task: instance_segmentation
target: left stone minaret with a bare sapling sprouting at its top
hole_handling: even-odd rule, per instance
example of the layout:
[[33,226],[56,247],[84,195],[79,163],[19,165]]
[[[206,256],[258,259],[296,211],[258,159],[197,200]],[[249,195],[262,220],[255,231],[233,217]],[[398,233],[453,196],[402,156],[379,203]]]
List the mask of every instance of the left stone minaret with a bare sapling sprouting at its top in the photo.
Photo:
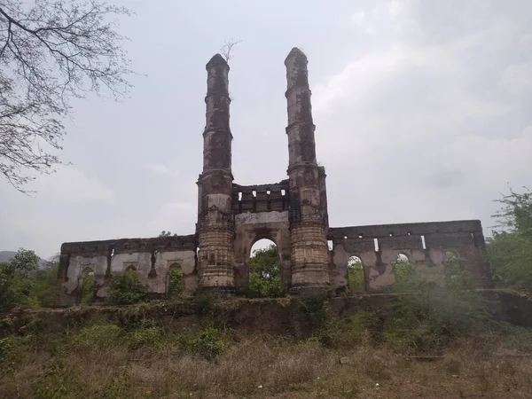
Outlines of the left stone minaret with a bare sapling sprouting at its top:
[[203,171],[198,179],[200,291],[234,290],[231,213],[231,129],[229,127],[229,65],[220,54],[207,63],[206,125],[203,132]]

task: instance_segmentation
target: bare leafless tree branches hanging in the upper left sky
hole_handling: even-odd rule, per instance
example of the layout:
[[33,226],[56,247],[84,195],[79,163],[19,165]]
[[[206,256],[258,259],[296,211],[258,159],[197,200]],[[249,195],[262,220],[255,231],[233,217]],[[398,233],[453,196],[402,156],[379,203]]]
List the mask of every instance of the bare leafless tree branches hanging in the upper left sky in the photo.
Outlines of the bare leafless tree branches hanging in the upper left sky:
[[128,93],[115,18],[130,14],[98,0],[0,0],[0,173],[20,192],[62,163],[70,99]]

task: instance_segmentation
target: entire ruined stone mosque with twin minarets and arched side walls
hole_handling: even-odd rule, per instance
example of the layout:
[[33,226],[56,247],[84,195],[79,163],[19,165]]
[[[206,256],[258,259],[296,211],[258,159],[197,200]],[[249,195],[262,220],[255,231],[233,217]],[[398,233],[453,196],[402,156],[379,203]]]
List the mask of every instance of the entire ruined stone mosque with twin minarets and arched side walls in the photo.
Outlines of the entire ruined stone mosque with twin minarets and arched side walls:
[[442,273],[449,254],[469,270],[478,286],[490,286],[485,243],[478,220],[330,227],[325,168],[318,166],[307,58],[288,54],[286,100],[288,177],[275,184],[233,182],[228,91],[229,66],[220,54],[207,63],[203,170],[198,179],[198,223],[194,234],[153,239],[69,242],[61,246],[61,302],[79,301],[82,279],[91,273],[97,299],[105,300],[113,277],[137,270],[153,298],[164,298],[170,270],[180,268],[184,291],[242,293],[247,262],[259,239],[278,248],[281,279],[289,293],[348,285],[348,260],[356,256],[368,292],[395,285],[397,256],[419,272]]

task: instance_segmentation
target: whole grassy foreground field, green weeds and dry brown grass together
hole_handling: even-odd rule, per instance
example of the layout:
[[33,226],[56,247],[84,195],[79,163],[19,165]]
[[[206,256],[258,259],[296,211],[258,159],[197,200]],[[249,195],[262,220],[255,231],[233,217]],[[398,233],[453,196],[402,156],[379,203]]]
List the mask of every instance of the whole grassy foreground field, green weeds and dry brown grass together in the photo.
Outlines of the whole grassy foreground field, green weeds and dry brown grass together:
[[[304,340],[92,325],[0,340],[2,398],[529,398],[532,332],[498,325],[416,348],[361,318]],[[425,338],[424,338],[425,339]],[[433,338],[427,338],[431,341]],[[429,349],[427,351],[427,348]],[[431,353],[432,352],[432,353]],[[437,355],[434,357],[416,357]],[[341,359],[341,362],[340,362]]]

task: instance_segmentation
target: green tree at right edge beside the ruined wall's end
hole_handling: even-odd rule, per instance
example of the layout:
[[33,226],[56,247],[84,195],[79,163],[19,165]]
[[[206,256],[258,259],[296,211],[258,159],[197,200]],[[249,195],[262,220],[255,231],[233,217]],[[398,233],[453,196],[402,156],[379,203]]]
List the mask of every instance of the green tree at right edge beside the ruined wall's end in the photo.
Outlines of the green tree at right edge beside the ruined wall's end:
[[514,192],[496,200],[496,229],[487,239],[487,252],[497,287],[532,293],[532,192]]

